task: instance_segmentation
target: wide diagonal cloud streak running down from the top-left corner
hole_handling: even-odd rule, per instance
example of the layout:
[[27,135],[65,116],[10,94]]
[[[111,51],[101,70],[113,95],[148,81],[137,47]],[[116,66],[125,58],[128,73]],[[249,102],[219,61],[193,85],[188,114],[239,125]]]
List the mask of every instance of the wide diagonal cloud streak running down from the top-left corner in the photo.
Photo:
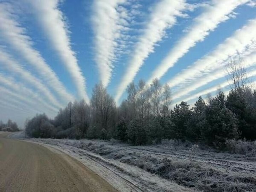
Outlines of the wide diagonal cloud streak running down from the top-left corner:
[[16,49],[29,64],[35,67],[38,74],[47,82],[47,85],[58,93],[65,103],[73,101],[73,96],[67,92],[40,53],[32,47],[31,38],[26,35],[26,29],[15,20],[16,17],[13,12],[14,10],[10,4],[0,3],[0,36]]

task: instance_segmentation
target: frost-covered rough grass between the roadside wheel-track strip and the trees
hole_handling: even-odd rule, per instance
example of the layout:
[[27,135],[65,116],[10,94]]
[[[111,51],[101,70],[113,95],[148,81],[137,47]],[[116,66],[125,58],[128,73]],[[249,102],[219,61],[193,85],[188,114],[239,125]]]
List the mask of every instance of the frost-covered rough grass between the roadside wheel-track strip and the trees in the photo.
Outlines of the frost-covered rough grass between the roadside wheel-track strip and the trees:
[[114,165],[121,163],[122,166],[137,167],[194,190],[256,191],[256,163],[245,158],[244,154],[222,153],[180,141],[163,141],[151,146],[131,146],[114,140],[33,141],[72,146],[96,154]]

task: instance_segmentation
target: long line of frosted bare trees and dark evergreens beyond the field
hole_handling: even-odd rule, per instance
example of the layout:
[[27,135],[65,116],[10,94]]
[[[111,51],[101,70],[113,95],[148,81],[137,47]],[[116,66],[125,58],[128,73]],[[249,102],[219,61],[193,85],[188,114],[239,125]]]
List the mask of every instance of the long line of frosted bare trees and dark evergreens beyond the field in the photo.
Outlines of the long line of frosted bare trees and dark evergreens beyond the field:
[[115,138],[134,145],[160,143],[162,139],[190,140],[220,147],[228,139],[256,139],[256,91],[238,86],[200,96],[193,107],[181,102],[170,109],[171,91],[155,79],[131,83],[119,107],[102,84],[93,89],[90,105],[69,103],[54,119],[45,114],[26,122],[26,134],[41,138]]

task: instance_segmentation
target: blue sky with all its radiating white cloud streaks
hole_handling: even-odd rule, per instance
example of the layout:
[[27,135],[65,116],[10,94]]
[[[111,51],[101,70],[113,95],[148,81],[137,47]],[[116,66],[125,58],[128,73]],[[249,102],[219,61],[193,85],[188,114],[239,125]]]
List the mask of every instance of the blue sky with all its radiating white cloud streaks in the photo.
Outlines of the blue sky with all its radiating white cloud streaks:
[[256,81],[256,0],[0,0],[0,119],[52,118],[99,82],[119,105],[140,79],[193,105],[239,58]]

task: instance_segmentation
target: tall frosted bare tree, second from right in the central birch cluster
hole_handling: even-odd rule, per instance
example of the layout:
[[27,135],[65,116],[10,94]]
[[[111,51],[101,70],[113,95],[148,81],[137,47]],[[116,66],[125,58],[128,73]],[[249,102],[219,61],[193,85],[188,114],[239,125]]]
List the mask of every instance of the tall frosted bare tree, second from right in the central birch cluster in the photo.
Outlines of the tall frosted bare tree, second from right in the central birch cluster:
[[150,85],[150,90],[151,90],[151,102],[152,102],[152,109],[153,113],[156,116],[160,116],[160,101],[161,101],[161,84],[158,79],[154,79],[152,84]]

